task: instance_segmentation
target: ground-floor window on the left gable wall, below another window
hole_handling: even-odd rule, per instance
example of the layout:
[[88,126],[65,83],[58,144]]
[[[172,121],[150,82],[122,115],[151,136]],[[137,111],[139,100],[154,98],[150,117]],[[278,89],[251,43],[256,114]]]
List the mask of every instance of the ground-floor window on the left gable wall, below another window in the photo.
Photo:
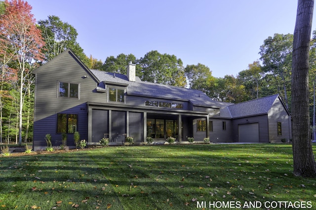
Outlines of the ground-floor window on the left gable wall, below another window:
[[57,114],[57,133],[74,133],[77,131],[78,115]]

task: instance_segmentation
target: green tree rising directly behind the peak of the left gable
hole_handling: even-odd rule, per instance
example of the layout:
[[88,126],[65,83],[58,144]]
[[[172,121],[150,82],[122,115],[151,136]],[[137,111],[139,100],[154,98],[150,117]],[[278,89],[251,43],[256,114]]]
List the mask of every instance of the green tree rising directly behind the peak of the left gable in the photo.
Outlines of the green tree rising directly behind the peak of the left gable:
[[39,21],[39,29],[45,41],[45,61],[70,48],[84,64],[89,64],[89,59],[77,42],[78,32],[72,25],[62,22],[57,16],[49,15],[47,20]]

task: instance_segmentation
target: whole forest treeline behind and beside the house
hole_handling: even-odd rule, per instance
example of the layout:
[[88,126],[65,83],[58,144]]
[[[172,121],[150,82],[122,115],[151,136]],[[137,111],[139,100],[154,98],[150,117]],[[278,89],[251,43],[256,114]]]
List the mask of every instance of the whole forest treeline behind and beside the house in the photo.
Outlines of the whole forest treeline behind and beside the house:
[[[32,71],[70,48],[91,69],[126,74],[129,62],[143,81],[197,89],[213,100],[239,103],[279,94],[291,111],[293,34],[267,37],[258,46],[260,60],[249,60],[247,69],[223,78],[212,76],[208,66],[183,65],[180,58],[152,50],[142,58],[119,54],[104,61],[89,57],[77,42],[77,30],[50,15],[35,21],[31,5],[23,0],[0,1],[0,144],[31,141],[34,111]],[[316,86],[316,30],[310,49],[310,102],[314,111]],[[311,119],[311,122],[313,120]]]

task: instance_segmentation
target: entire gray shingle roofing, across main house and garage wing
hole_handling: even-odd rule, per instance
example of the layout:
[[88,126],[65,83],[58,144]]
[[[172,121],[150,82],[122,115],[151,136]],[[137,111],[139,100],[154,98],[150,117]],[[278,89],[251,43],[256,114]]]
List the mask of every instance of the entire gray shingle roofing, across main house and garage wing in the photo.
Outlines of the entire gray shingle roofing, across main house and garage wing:
[[184,100],[190,101],[193,105],[197,106],[220,107],[220,116],[224,118],[240,118],[267,114],[278,97],[278,94],[276,94],[238,104],[232,104],[214,101],[200,90],[142,82],[139,77],[136,77],[136,82],[130,82],[127,76],[123,74],[92,69],[90,71],[99,81],[128,86],[127,94],[129,95]]

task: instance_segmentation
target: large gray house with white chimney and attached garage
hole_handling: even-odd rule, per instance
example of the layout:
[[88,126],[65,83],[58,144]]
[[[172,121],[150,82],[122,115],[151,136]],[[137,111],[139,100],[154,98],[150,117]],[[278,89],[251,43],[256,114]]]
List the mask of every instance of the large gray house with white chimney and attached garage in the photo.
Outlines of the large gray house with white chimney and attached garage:
[[278,95],[239,104],[214,101],[200,90],[141,81],[135,64],[127,75],[87,68],[70,50],[37,68],[34,110],[34,149],[74,145],[74,132],[88,144],[109,138],[121,145],[126,136],[136,144],[153,137],[176,143],[187,137],[202,142],[280,142],[291,138],[290,114]]

